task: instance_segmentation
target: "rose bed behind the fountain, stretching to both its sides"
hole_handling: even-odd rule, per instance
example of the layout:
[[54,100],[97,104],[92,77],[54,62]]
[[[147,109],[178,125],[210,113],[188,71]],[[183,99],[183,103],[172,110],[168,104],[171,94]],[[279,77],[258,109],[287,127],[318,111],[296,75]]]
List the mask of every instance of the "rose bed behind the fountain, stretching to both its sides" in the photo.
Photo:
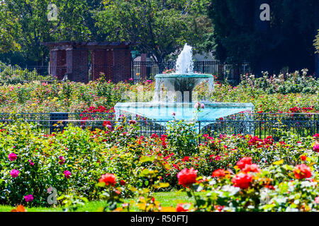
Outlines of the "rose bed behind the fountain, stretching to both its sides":
[[[255,112],[319,111],[318,80],[297,72],[286,79],[281,77],[245,77],[235,87],[216,82],[214,93],[209,93],[208,85],[201,83],[195,91],[198,101],[208,97],[213,102],[252,102]],[[285,91],[281,91],[281,85]],[[121,101],[148,102],[154,90],[155,83],[151,81],[112,83],[103,76],[88,84],[69,81],[6,84],[0,87],[0,112],[83,112],[99,106],[111,109]],[[141,96],[142,91],[145,93]]]

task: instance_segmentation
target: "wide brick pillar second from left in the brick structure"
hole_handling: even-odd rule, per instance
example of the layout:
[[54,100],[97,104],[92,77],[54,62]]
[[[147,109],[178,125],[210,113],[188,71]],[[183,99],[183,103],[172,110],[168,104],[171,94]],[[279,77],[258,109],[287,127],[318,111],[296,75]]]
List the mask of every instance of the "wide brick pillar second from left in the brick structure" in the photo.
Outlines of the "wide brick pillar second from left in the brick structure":
[[89,51],[67,49],[67,76],[70,81],[89,83]]

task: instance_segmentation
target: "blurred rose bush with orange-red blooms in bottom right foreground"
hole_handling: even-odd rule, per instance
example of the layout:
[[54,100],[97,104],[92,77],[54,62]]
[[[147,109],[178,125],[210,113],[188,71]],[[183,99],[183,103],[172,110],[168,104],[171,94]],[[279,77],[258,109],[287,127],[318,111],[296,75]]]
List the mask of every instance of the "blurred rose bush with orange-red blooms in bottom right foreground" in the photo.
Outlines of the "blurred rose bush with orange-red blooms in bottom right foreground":
[[[283,160],[257,172],[236,172],[228,177],[201,177],[190,190],[207,192],[195,196],[193,211],[318,211],[318,171],[306,165],[293,167]],[[313,162],[307,162],[313,165]],[[303,177],[296,171],[303,171]],[[313,174],[311,174],[313,172]]]

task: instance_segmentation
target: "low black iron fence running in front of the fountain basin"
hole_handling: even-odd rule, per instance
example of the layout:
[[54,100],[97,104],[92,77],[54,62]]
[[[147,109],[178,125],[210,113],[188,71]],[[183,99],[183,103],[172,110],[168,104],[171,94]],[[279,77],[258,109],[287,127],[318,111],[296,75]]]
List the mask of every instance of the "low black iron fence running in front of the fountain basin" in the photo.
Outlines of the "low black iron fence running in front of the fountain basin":
[[[142,136],[166,133],[165,124],[168,121],[154,121],[142,117],[132,118],[138,123],[138,130]],[[0,122],[14,123],[16,121],[33,122],[40,131],[52,133],[65,126],[80,126],[89,129],[104,129],[103,122],[110,121],[114,127],[119,121],[113,113],[23,113],[0,114]],[[296,133],[298,137],[313,136],[319,133],[319,114],[306,113],[240,113],[214,121],[196,121],[194,129],[198,133],[210,136],[220,134],[250,134],[259,138],[272,136],[275,140],[281,138],[283,131]]]

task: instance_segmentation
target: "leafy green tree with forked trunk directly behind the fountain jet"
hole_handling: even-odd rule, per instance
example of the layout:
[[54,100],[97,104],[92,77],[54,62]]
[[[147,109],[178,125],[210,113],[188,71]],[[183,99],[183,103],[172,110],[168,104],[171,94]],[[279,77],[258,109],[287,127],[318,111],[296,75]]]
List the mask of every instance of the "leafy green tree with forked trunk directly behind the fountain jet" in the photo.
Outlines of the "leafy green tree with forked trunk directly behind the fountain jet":
[[106,0],[96,14],[99,33],[111,41],[130,40],[162,70],[165,57],[185,42],[199,45],[212,32],[206,0]]

